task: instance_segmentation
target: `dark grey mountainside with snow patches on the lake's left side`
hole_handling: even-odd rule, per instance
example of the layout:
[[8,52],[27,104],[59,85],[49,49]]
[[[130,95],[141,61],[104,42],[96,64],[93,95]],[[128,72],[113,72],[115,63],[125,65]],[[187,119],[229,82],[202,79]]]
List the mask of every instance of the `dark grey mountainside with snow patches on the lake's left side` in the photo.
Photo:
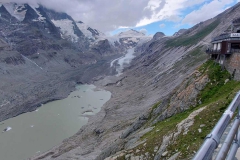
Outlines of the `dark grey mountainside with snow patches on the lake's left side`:
[[0,4],[0,121],[66,97],[76,83],[113,74],[110,61],[138,42],[121,38],[115,44],[41,5]]

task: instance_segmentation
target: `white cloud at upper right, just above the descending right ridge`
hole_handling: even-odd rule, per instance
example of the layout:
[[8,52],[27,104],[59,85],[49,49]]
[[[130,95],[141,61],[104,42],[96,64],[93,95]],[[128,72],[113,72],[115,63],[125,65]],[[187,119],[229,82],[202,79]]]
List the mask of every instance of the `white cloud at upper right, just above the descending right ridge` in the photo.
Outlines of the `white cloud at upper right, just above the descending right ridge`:
[[213,18],[223,12],[226,6],[233,2],[233,0],[213,0],[210,3],[205,3],[200,9],[194,10],[186,15],[182,23],[194,25]]

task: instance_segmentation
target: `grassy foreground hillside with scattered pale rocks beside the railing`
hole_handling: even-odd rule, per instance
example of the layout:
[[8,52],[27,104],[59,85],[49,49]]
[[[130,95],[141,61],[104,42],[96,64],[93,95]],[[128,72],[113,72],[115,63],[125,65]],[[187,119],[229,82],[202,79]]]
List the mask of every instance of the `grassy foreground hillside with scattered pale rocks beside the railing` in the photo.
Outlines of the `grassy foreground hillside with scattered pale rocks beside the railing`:
[[[150,117],[143,128],[154,128],[141,137],[140,145],[117,156],[118,160],[131,157],[168,159],[171,156],[191,159],[195,155],[204,138],[240,90],[240,82],[232,80],[232,76],[212,60],[204,63],[198,71],[207,75],[209,81],[196,97],[197,105],[189,106],[189,109],[155,124],[152,123],[155,119]],[[161,102],[153,105],[152,112],[160,105]],[[179,130],[179,126],[185,128],[180,127]]]

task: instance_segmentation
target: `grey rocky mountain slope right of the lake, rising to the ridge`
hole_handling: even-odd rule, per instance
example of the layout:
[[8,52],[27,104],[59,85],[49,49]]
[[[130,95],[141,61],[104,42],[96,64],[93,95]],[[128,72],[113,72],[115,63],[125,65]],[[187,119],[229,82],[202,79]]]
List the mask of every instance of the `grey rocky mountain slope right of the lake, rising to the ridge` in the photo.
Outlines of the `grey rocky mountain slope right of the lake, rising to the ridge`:
[[[102,160],[107,157],[109,157],[108,159],[159,159],[161,156],[175,157],[176,159],[180,155],[178,148],[174,148],[175,150],[172,150],[169,155],[166,151],[169,131],[176,133],[177,137],[182,131],[182,124],[188,126],[185,128],[187,132],[192,125],[187,122],[193,121],[202,113],[205,115],[207,112],[214,113],[214,109],[216,109],[214,108],[216,105],[212,105],[212,108],[211,106],[206,110],[201,108],[191,112],[192,114],[186,111],[192,106],[203,103],[203,99],[198,99],[199,94],[206,86],[214,84],[209,81],[216,82],[209,78],[205,71],[195,69],[207,60],[208,57],[204,51],[211,45],[211,39],[227,30],[234,18],[240,17],[239,10],[240,4],[237,4],[215,18],[184,31],[179,36],[162,37],[163,35],[159,34],[162,38],[154,38],[137,47],[136,54],[139,56],[120,77],[106,77],[95,82],[96,85],[112,92],[111,100],[105,104],[102,110],[96,116],[91,117],[88,125],[80,129],[76,135],[65,140],[60,146],[33,159]],[[205,67],[207,68],[207,66]],[[216,86],[218,84],[223,86],[224,80],[229,74],[224,75],[220,76],[224,79],[221,80],[221,83],[216,83]],[[236,82],[232,81],[231,83],[235,84]],[[234,93],[231,92],[231,97],[232,95]],[[226,97],[224,98],[226,99]],[[220,102],[224,108],[226,103],[222,100]],[[173,118],[174,123],[172,123],[172,120],[168,119],[181,112],[183,114],[179,115],[179,119],[183,121],[175,123]],[[177,127],[179,130],[177,129],[176,132],[170,129],[164,131],[161,121],[169,121],[165,126],[172,126],[173,129],[179,124]],[[214,122],[209,121],[213,127]],[[154,124],[159,124],[159,126],[155,126],[153,129]],[[199,126],[197,127],[199,128]],[[158,137],[160,143],[151,145],[153,148],[149,146],[150,138],[145,141],[140,139],[144,138],[146,133],[161,135],[162,137]],[[204,132],[204,134],[206,133]],[[154,138],[156,137],[153,136],[152,140],[156,142]],[[166,142],[161,143],[165,139]],[[198,145],[200,143],[199,141]],[[151,152],[147,148],[151,149]],[[118,153],[115,156],[110,157],[116,152]],[[184,152],[184,155],[183,159],[191,157],[193,154],[186,155]]]

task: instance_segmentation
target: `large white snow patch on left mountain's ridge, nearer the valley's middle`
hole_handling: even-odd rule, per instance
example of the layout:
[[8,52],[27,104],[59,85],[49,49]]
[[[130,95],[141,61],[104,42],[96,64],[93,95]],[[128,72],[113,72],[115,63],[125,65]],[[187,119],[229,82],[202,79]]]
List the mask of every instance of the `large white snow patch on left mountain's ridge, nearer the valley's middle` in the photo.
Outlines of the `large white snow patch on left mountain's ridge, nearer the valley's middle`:
[[55,26],[60,28],[63,39],[70,39],[72,42],[78,41],[78,36],[74,33],[73,21],[69,19],[52,20]]

